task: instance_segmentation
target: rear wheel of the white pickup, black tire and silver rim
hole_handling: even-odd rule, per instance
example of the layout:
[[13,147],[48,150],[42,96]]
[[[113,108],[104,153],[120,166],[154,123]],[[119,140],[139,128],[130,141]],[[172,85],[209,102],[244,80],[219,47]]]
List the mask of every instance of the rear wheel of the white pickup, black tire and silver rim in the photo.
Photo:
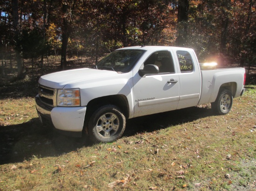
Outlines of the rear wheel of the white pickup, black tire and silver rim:
[[219,115],[226,115],[232,108],[233,96],[228,89],[222,89],[215,102],[211,103],[211,108]]

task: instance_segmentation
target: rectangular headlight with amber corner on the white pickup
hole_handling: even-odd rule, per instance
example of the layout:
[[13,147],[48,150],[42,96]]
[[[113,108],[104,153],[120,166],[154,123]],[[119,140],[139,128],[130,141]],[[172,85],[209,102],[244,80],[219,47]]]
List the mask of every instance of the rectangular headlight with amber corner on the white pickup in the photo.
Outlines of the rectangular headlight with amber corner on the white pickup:
[[81,106],[80,89],[58,89],[57,106]]

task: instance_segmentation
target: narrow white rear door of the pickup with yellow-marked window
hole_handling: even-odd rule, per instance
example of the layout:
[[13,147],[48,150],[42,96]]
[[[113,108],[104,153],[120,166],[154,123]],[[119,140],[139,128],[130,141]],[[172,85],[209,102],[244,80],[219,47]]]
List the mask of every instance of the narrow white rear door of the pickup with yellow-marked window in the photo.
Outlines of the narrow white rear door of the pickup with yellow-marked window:
[[177,109],[198,104],[201,95],[201,70],[195,54],[189,51],[175,51],[175,59],[180,70],[180,101]]

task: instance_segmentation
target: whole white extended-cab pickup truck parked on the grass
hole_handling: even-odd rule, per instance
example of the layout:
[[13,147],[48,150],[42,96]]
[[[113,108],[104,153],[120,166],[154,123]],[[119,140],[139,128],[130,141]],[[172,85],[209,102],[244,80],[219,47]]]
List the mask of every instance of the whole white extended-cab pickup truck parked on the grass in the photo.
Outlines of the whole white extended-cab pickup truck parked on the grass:
[[36,109],[41,122],[50,121],[62,133],[85,132],[94,142],[112,142],[123,134],[127,119],[142,115],[204,103],[217,114],[229,113],[233,97],[243,95],[245,70],[209,68],[189,48],[121,48],[96,69],[41,76]]

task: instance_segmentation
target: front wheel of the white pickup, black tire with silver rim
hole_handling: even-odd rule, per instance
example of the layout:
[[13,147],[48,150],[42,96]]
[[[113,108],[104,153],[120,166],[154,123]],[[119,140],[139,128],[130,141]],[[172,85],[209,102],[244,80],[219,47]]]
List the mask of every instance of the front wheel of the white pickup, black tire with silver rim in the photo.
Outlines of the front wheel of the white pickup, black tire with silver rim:
[[113,142],[121,137],[125,125],[126,119],[120,109],[114,105],[105,105],[91,115],[88,135],[94,143]]

